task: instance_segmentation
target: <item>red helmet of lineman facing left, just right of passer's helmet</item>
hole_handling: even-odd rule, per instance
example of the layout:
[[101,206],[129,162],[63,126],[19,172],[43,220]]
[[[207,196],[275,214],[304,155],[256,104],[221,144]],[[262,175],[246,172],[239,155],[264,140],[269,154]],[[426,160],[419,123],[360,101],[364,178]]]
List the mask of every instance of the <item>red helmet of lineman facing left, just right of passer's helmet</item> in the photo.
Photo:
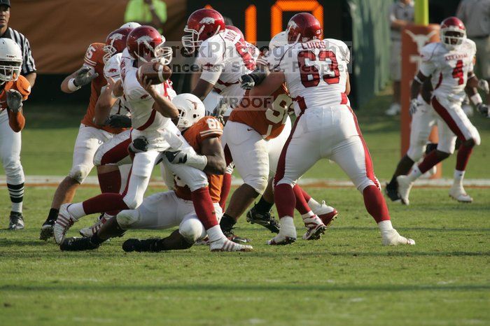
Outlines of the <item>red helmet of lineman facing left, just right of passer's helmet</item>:
[[225,30],[225,19],[214,9],[195,10],[189,16],[182,36],[182,45],[188,53],[194,53],[203,41]]

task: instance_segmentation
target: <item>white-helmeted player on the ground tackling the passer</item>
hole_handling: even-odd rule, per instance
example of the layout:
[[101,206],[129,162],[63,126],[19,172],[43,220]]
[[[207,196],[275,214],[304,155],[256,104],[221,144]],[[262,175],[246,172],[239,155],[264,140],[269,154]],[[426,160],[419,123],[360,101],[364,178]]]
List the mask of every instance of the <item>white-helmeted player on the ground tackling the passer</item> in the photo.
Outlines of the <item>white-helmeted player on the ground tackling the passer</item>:
[[[225,171],[225,155],[220,143],[223,134],[221,122],[204,116],[204,104],[193,94],[180,94],[172,101],[179,108],[177,127],[199,155],[206,155],[204,171],[209,180],[209,193],[214,202],[217,218],[221,217],[219,199]],[[166,171],[169,171],[167,169]],[[153,194],[144,199],[134,210],[121,211],[107,222],[96,234],[85,239],[66,239],[62,250],[90,250],[112,236],[120,236],[127,229],[169,229],[179,227],[165,239],[129,239],[123,244],[125,251],[161,251],[186,249],[203,239],[207,232],[197,218],[191,202],[190,189],[178,176],[172,175],[174,190]],[[220,250],[211,243],[211,250]],[[251,250],[250,246],[244,247]]]

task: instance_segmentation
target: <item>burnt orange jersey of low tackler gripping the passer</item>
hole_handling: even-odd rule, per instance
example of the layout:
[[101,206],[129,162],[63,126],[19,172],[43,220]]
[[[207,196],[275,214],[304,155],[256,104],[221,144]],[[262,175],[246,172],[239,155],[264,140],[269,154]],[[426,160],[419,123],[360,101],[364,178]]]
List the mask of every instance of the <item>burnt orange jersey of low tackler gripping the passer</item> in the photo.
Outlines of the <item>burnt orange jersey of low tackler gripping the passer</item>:
[[[223,125],[221,125],[221,122],[216,120],[216,118],[209,116],[197,121],[194,125],[183,132],[184,138],[186,139],[186,141],[188,141],[190,146],[193,146],[197,154],[202,153],[202,142],[205,139],[219,139],[222,134]],[[218,201],[220,201],[221,197],[221,185],[223,185],[223,176],[209,173],[207,173],[207,176],[209,182],[209,194],[211,194],[211,199],[213,200],[213,202],[217,203]],[[178,177],[176,177],[175,182],[175,193],[179,198],[191,200],[189,187],[179,185]]]

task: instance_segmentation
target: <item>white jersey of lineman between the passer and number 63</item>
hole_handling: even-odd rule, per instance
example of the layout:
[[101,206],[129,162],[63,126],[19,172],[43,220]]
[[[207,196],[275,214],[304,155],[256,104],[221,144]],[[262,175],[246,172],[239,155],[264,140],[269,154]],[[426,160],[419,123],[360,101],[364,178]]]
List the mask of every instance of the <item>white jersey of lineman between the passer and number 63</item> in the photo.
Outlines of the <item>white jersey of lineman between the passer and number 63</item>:
[[[208,38],[200,46],[197,64],[203,69],[201,79],[214,84],[214,90],[225,99],[243,97],[245,90],[240,87],[241,75],[255,69],[255,58],[258,53],[244,41],[236,31],[225,29],[222,33]],[[251,54],[252,53],[252,54]],[[235,107],[238,101],[229,101]]]

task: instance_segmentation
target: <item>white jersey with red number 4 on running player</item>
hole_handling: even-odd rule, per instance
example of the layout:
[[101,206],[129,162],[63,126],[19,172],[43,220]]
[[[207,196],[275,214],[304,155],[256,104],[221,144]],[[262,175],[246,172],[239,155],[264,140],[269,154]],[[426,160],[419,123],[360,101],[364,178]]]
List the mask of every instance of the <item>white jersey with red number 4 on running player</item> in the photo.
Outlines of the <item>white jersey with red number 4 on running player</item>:
[[443,43],[429,43],[421,50],[420,72],[432,75],[433,95],[450,101],[463,101],[468,72],[473,71],[475,42],[465,38],[454,50]]

